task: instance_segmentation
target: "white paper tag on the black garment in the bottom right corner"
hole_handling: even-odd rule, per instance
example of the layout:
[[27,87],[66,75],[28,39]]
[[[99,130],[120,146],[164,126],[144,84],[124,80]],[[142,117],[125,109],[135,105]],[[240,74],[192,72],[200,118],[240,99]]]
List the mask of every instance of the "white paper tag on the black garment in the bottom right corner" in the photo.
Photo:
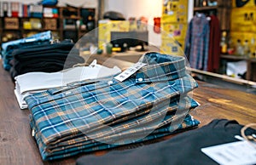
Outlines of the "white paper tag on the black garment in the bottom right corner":
[[223,165],[256,164],[256,145],[245,140],[210,146],[202,148],[201,151]]

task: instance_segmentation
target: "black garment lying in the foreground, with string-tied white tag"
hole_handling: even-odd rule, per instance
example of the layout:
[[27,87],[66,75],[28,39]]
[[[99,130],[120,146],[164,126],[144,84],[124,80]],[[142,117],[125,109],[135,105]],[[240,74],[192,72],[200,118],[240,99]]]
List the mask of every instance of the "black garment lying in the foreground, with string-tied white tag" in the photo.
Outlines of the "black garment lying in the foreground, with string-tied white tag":
[[[218,164],[201,152],[201,148],[237,141],[243,126],[236,121],[216,119],[203,126],[151,145],[127,151],[110,151],[103,156],[82,156],[77,165],[97,164]],[[254,132],[255,130],[250,129]]]

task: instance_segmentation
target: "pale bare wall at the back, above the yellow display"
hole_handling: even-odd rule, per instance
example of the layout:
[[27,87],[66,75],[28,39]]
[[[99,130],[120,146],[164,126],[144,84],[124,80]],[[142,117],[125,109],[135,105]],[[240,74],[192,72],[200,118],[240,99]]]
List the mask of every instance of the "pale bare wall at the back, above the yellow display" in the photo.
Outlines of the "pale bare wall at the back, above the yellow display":
[[105,0],[104,11],[117,11],[124,14],[125,19],[141,16],[148,18],[148,42],[160,46],[160,34],[154,33],[154,17],[162,14],[162,0]]

